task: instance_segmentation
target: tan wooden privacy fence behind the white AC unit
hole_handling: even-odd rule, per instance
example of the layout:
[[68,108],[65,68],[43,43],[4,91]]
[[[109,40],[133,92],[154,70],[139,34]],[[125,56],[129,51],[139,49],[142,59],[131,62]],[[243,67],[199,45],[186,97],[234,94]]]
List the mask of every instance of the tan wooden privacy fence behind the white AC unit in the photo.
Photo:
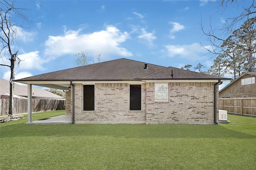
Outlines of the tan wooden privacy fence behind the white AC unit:
[[228,113],[256,116],[256,98],[219,99],[219,109]]

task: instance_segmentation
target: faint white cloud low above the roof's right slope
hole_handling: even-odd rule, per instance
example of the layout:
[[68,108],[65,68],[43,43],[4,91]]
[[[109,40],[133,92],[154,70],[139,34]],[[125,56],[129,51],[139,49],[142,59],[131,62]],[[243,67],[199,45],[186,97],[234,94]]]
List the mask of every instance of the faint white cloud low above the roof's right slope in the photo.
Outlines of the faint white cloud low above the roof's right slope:
[[168,57],[180,57],[188,61],[197,61],[202,59],[202,55],[206,53],[200,44],[193,43],[191,45],[165,45],[165,52]]

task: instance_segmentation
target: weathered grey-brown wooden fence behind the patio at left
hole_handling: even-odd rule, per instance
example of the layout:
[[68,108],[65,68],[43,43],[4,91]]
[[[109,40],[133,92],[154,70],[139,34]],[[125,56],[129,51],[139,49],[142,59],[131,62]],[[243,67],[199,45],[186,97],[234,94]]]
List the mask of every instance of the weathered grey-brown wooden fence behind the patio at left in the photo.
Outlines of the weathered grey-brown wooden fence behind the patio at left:
[[[63,110],[66,100],[32,99],[32,112]],[[9,111],[9,99],[0,99],[0,116],[7,115]],[[27,99],[14,99],[14,113],[28,113]]]

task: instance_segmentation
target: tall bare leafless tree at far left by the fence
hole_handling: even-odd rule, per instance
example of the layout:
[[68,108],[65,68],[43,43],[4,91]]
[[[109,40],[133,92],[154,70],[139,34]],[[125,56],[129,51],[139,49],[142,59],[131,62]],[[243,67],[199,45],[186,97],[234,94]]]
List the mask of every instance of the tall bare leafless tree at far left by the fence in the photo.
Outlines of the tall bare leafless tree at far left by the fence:
[[[18,58],[18,51],[14,51],[14,46],[18,44],[16,37],[18,32],[22,32],[22,23],[31,24],[31,21],[23,13],[26,8],[16,8],[15,0],[1,0],[0,1],[0,58],[7,58],[10,64],[0,64],[1,66],[10,67],[10,104],[8,117],[14,114],[13,107],[13,90],[14,90],[14,68],[19,66],[20,59]],[[20,24],[18,23],[20,21]]]

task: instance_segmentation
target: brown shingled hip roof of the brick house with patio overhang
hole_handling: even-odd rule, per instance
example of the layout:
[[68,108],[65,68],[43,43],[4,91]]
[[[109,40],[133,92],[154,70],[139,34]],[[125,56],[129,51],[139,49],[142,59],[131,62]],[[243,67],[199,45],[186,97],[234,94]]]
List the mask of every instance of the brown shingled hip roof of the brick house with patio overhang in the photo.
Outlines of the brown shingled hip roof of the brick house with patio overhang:
[[[143,62],[130,59],[116,59],[102,63],[90,64],[40,74],[16,80],[27,84],[66,90],[70,81],[134,81],[134,80],[229,80],[218,76],[211,76],[198,72],[182,70],[174,67],[164,67],[147,64],[144,69]],[[174,74],[172,78],[171,74]],[[39,83],[41,82],[41,83]],[[44,82],[44,83],[42,83]],[[51,82],[51,83],[50,83]]]

